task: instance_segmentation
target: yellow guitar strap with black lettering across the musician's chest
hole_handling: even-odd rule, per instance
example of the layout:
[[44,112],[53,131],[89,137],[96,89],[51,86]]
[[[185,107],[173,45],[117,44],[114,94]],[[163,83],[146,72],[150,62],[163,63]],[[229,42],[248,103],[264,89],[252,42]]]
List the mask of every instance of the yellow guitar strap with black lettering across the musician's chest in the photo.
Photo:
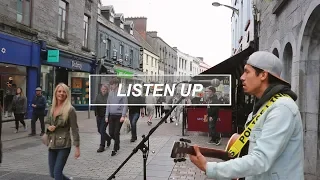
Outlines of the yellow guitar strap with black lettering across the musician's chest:
[[[290,97],[287,94],[278,93],[275,94],[267,103],[264,105],[260,112],[257,113],[256,116],[252,119],[250,124],[245,128],[245,130],[241,133],[239,138],[235,141],[235,143],[230,147],[229,153],[232,157],[236,157],[242,150],[242,148],[245,146],[245,144],[248,142],[249,136],[251,134],[251,130],[258,121],[259,117],[274,103],[277,99],[281,97]],[[291,97],[290,97],[291,98]]]

